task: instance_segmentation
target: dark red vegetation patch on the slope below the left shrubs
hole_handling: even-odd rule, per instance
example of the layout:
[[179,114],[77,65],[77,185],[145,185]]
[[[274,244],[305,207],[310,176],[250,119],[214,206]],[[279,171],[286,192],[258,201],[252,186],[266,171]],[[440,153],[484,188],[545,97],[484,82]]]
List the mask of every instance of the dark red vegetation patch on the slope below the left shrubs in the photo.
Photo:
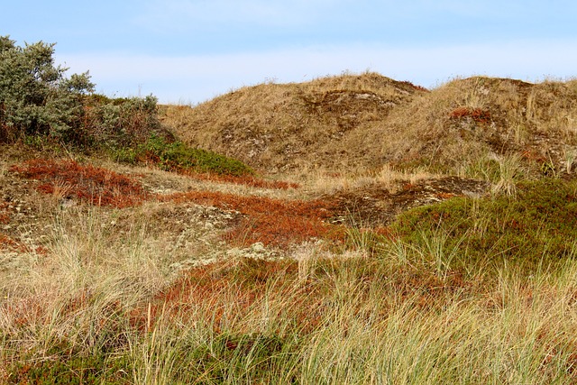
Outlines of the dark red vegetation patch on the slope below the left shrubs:
[[136,206],[148,197],[139,182],[74,160],[28,160],[11,170],[25,178],[41,180],[41,192],[78,197],[97,206]]

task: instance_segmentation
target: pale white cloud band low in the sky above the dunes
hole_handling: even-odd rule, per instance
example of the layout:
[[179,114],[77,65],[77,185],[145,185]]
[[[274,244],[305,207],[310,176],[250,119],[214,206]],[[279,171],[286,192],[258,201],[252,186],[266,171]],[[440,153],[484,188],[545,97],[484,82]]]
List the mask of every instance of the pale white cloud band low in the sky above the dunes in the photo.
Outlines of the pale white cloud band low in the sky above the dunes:
[[110,53],[66,55],[57,60],[65,62],[73,72],[89,69],[98,90],[105,94],[152,93],[161,102],[195,103],[266,79],[298,82],[343,70],[371,69],[425,87],[471,75],[529,81],[545,76],[567,78],[577,75],[577,41],[516,41],[424,49],[332,46],[183,57]]

